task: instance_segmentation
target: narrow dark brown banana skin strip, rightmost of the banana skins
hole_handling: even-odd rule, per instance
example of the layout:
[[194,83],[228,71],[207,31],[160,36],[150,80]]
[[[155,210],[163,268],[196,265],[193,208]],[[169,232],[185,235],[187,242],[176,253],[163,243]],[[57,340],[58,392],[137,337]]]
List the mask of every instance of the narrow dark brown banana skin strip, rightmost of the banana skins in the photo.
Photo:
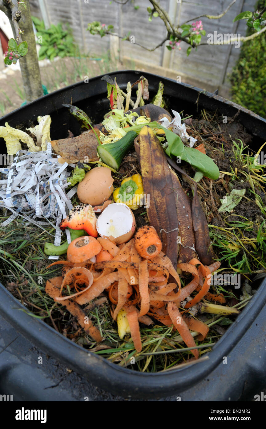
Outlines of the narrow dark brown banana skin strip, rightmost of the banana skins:
[[203,265],[210,265],[213,263],[215,254],[210,243],[210,233],[207,219],[198,199],[197,185],[195,186],[194,190],[191,211],[195,234],[195,246],[199,260]]

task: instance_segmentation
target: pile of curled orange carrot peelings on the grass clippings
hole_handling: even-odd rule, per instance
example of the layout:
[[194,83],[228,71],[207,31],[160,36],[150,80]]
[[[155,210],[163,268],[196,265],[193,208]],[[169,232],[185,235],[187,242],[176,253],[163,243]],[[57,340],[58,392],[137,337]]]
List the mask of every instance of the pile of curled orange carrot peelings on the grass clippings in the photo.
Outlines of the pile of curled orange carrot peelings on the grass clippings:
[[[64,276],[61,278],[61,289],[54,298],[56,301],[62,301],[66,306],[65,302],[75,303],[77,306],[84,305],[105,290],[108,291],[109,300],[115,305],[115,309],[111,311],[112,317],[116,320],[121,309],[127,312],[131,337],[138,352],[142,350],[139,322],[151,325],[153,323],[151,317],[166,326],[173,324],[174,329],[177,329],[188,347],[195,346],[195,340],[189,329],[198,332],[197,339],[200,341],[206,337],[208,326],[187,313],[188,308],[203,297],[214,298],[214,295],[209,292],[209,275],[219,268],[218,261],[209,267],[195,258],[189,263],[178,264],[180,272],[187,272],[193,276],[185,287],[181,287],[177,271],[162,251],[155,258],[142,259],[136,251],[134,239],[119,247],[107,239],[99,238],[95,241],[102,246],[100,252],[102,254],[106,252],[110,260],[100,260],[96,263],[56,261],[50,264],[50,266],[63,265]],[[174,278],[175,282],[170,280],[168,283],[169,277]],[[62,296],[62,290],[66,285],[76,290],[76,293]],[[181,314],[180,302],[195,290],[196,296],[184,306],[186,311]],[[224,298],[219,296],[219,299]],[[76,307],[73,311],[77,311]],[[85,329],[82,320],[80,318],[79,320],[80,325]],[[91,333],[89,335],[92,336]],[[198,358],[198,350],[193,349],[192,353],[195,358]]]

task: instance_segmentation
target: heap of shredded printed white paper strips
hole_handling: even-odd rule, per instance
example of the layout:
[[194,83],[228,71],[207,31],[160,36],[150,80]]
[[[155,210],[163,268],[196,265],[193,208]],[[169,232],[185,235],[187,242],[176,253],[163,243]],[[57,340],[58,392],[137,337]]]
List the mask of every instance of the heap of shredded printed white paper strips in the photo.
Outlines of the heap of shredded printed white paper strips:
[[73,207],[71,198],[77,191],[73,187],[66,192],[68,166],[52,157],[50,143],[46,151],[19,150],[11,166],[0,169],[0,207],[12,212],[0,226],[6,227],[18,216],[42,230],[50,225],[56,230],[54,244],[60,245],[59,224]]

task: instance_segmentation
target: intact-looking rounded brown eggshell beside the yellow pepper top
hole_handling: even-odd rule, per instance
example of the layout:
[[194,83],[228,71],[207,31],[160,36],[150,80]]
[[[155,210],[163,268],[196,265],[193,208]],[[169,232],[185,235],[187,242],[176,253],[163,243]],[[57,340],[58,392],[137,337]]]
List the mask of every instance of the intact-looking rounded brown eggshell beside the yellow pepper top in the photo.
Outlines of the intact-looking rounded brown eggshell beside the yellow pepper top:
[[78,184],[77,196],[81,202],[99,205],[111,195],[114,187],[111,170],[107,167],[95,167],[88,171]]

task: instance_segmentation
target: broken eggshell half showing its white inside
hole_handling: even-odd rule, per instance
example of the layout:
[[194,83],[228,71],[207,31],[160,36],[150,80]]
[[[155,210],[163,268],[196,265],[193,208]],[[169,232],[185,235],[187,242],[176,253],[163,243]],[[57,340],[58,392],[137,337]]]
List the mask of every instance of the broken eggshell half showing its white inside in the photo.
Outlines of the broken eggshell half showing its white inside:
[[136,229],[133,211],[126,204],[109,204],[98,217],[96,229],[101,237],[116,245],[127,243]]

